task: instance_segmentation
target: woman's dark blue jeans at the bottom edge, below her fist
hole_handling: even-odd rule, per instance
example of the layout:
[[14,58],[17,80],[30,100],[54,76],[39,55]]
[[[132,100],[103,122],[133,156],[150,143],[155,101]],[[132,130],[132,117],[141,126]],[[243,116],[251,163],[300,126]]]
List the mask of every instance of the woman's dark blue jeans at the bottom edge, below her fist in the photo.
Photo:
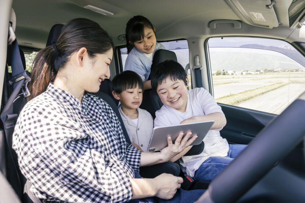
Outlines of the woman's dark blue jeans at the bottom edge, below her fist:
[[[141,178],[140,174],[135,172],[135,178]],[[128,201],[128,203],[163,203],[163,202],[167,202],[167,203],[188,203],[188,202],[194,202],[197,199],[199,199],[199,197],[205,192],[205,190],[190,190],[190,191],[185,191],[182,190],[181,188],[177,190],[176,194],[174,195],[173,198],[169,199],[169,200],[165,200],[165,199],[160,199],[157,197],[150,197],[150,198],[144,198],[144,199],[133,199]]]

